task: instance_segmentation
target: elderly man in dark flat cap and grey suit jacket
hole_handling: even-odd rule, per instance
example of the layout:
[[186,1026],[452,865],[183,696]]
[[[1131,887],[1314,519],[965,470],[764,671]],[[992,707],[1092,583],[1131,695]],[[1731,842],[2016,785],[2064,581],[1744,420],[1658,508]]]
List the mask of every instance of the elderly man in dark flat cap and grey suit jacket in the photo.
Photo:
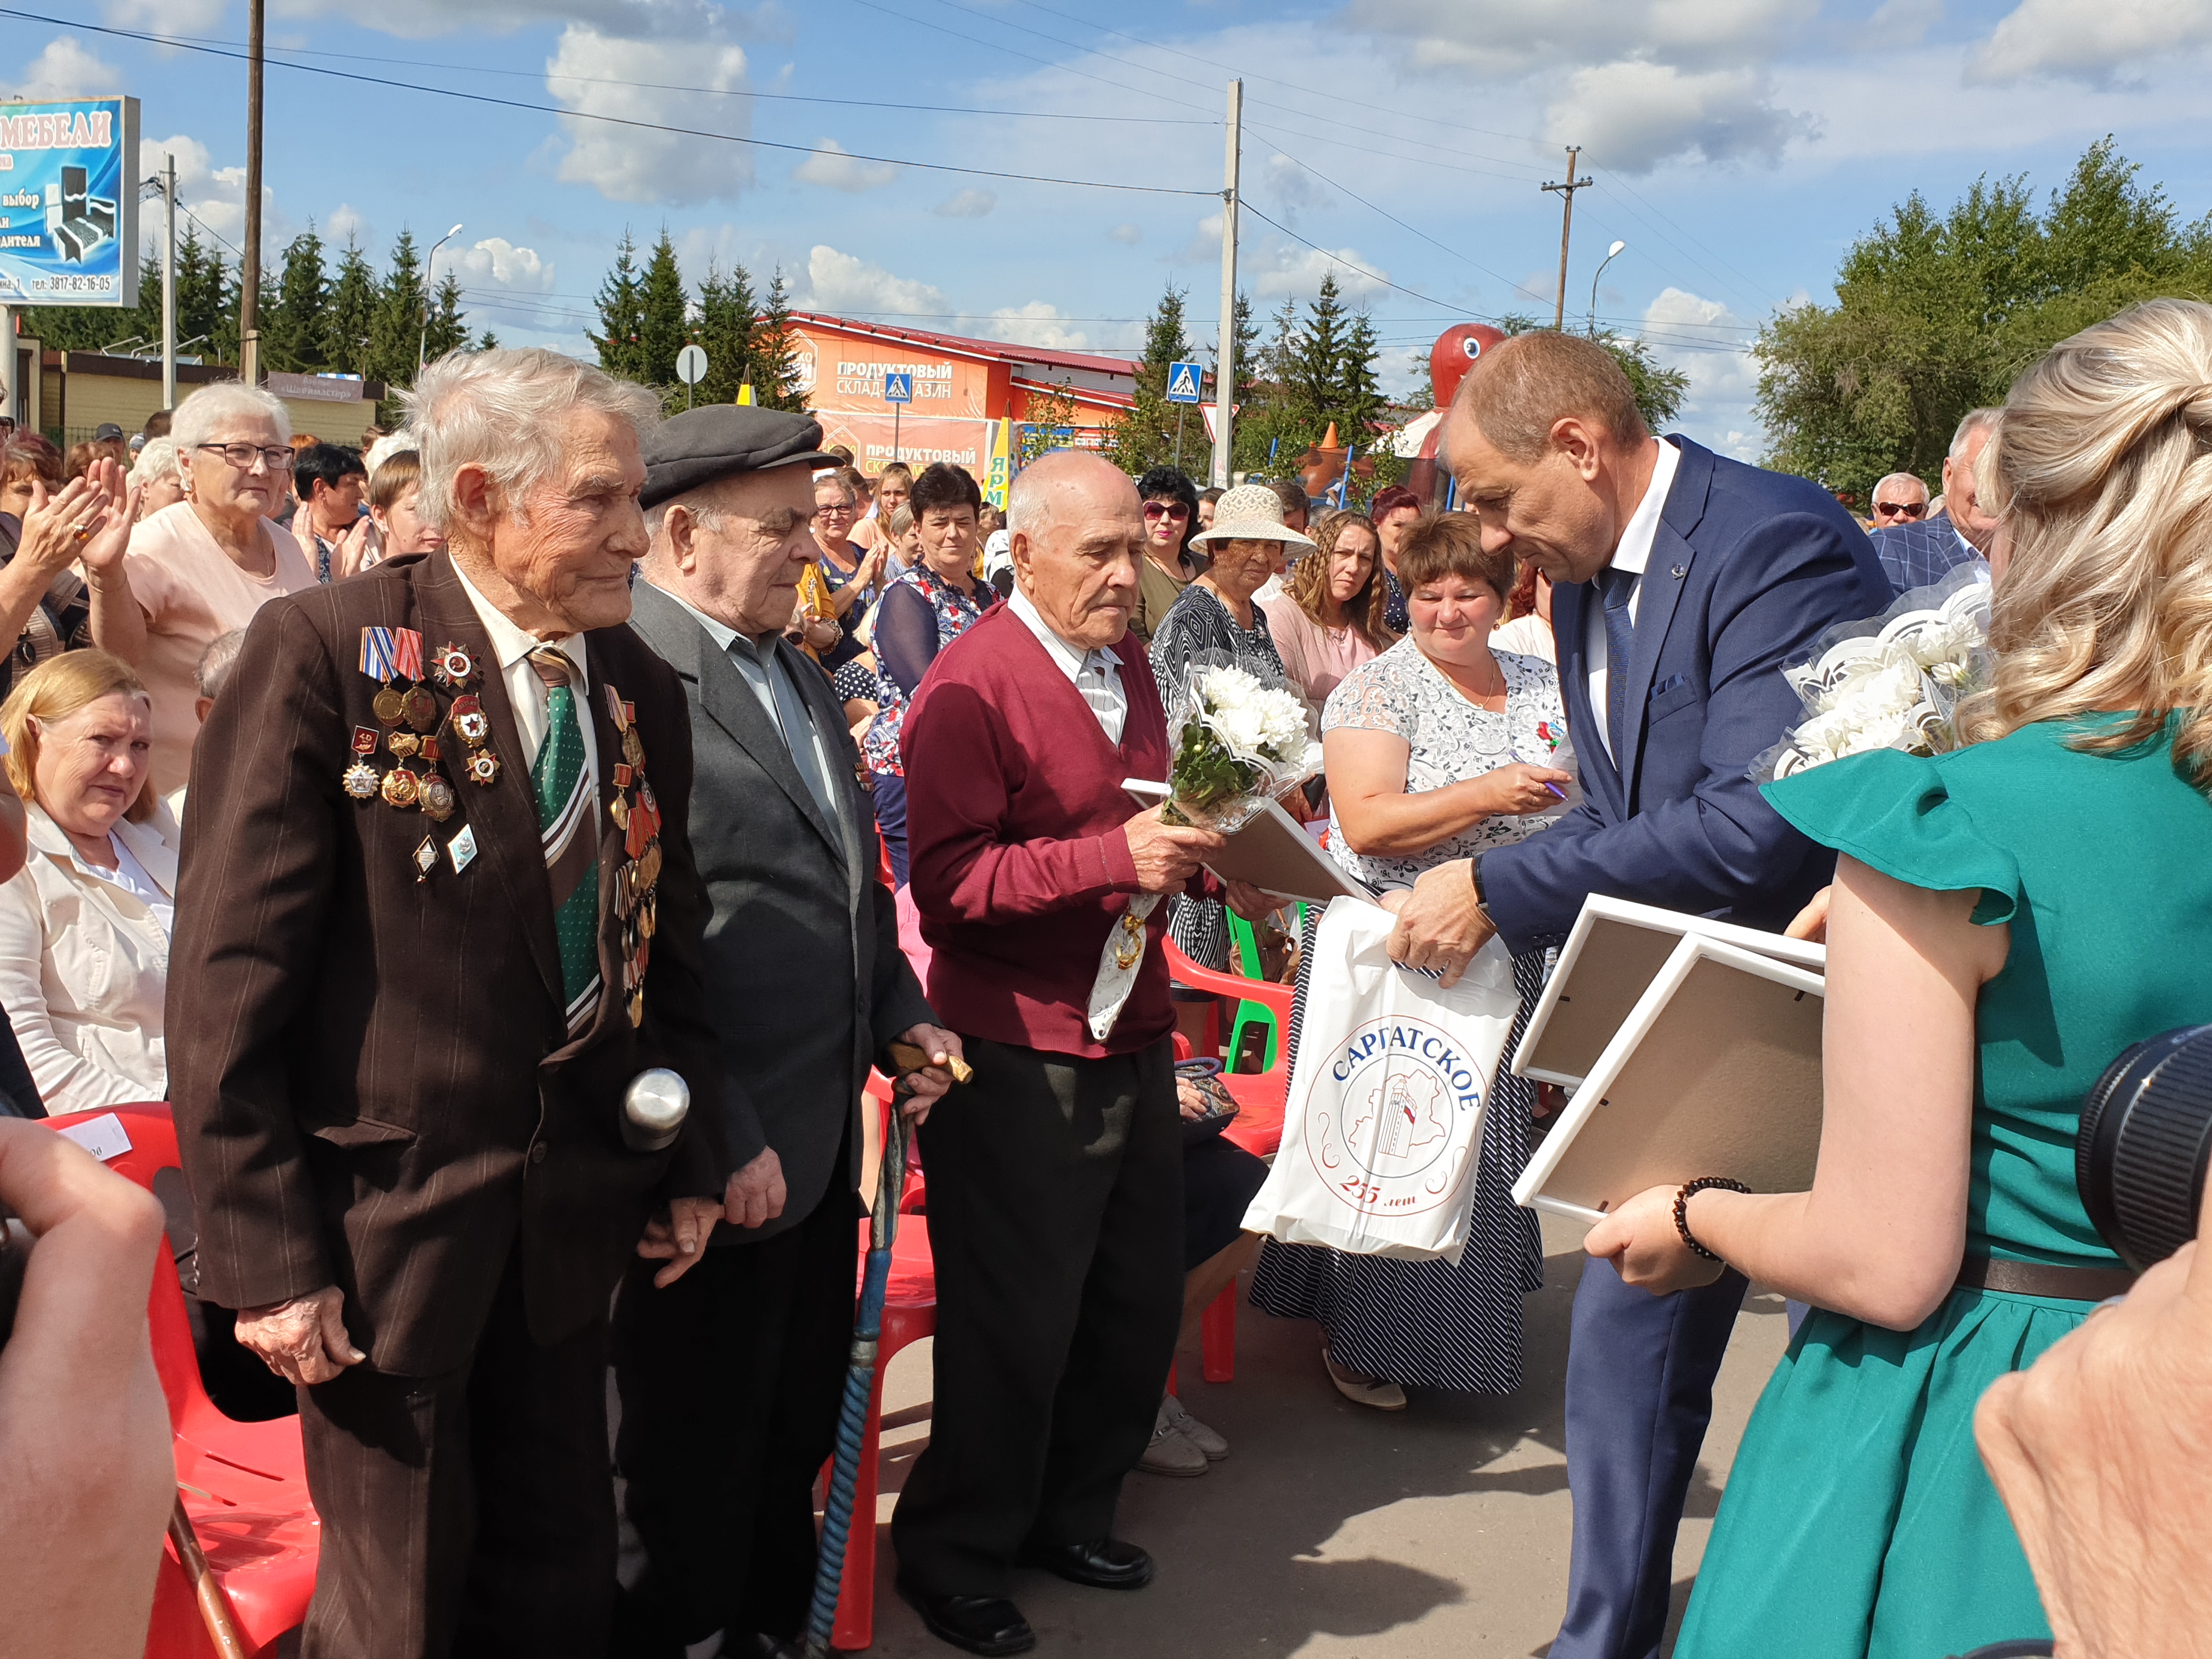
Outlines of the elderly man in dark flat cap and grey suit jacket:
[[[860,1091],[905,1040],[949,1060],[876,880],[876,821],[823,670],[783,639],[821,427],[712,407],[646,440],[653,535],[630,626],[692,717],[692,849],[708,887],[730,1177],[706,1261],[668,1290],[639,1263],[615,1307],[617,1462],[646,1548],[615,1652],[726,1655],[799,1635],[814,1475],[836,1438],[854,1310]],[[949,1077],[911,1075],[916,1115]]]

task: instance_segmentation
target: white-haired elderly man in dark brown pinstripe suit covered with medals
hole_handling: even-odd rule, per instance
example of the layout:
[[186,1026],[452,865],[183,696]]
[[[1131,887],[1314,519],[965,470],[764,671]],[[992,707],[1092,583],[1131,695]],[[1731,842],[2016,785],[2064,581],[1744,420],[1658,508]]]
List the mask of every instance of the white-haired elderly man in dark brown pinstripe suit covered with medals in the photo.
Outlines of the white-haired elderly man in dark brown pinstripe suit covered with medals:
[[622,626],[657,407],[551,352],[411,405],[447,549],[268,604],[195,748],[197,1290],[299,1385],[305,1659],[597,1659],[608,1296],[726,1175],[690,721]]

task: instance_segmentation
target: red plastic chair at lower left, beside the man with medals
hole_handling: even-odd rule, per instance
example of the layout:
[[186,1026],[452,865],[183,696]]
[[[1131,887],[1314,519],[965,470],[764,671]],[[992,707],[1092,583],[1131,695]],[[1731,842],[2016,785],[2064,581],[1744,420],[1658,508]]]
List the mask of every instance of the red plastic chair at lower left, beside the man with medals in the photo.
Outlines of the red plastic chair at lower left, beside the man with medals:
[[[153,1190],[159,1170],[177,1168],[177,1128],[168,1106],[115,1106],[113,1113],[131,1135],[131,1150],[111,1157],[108,1168]],[[71,1113],[49,1121],[69,1128],[104,1115]],[[168,1396],[184,1509],[246,1650],[274,1652],[276,1639],[307,1617],[323,1542],[323,1522],[307,1500],[299,1418],[234,1422],[215,1407],[199,1380],[184,1290],[168,1250],[155,1263],[146,1318],[155,1371]],[[146,1659],[215,1659],[192,1586],[168,1546],[155,1579]]]

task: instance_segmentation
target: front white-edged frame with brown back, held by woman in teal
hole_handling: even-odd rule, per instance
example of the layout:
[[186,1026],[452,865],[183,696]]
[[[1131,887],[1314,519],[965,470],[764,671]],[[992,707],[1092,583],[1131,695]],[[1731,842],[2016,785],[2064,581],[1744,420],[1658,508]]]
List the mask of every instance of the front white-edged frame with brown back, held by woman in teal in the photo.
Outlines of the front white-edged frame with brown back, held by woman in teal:
[[1823,989],[1803,967],[1679,933],[1577,1079],[1513,1201],[1595,1223],[1646,1188],[1701,1175],[1754,1192],[1809,1188]]

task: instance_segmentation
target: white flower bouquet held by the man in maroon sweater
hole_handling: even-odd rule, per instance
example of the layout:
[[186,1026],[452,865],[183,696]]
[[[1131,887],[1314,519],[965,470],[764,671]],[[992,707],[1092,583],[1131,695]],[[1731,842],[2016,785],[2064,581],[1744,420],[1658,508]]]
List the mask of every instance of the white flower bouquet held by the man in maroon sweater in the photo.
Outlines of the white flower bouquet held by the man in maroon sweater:
[[1232,834],[1283,790],[1321,770],[1305,703],[1228,655],[1201,653],[1183,670],[1170,710],[1179,721],[1168,774],[1168,823]]

